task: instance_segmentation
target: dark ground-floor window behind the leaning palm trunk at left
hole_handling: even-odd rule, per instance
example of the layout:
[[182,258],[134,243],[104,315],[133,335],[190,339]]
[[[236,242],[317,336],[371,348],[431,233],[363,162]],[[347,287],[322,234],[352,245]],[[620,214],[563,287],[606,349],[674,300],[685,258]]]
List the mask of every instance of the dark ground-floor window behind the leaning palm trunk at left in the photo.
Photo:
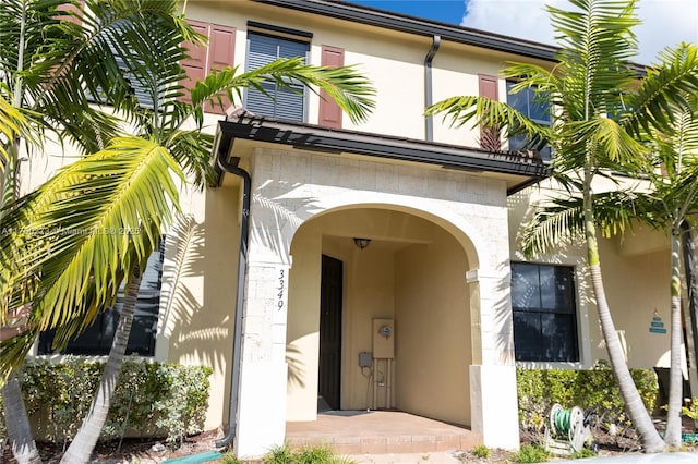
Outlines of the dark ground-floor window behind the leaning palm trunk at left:
[[[141,280],[139,301],[133,315],[131,335],[127,345],[127,354],[141,356],[155,355],[155,335],[157,317],[160,307],[160,288],[163,283],[163,255],[165,239],[160,240],[160,248],[148,258]],[[68,343],[62,354],[107,355],[111,347],[119,310],[123,304],[123,289],[119,291],[117,304],[95,318],[80,337]],[[55,330],[41,332],[39,335],[39,354],[51,354]]]

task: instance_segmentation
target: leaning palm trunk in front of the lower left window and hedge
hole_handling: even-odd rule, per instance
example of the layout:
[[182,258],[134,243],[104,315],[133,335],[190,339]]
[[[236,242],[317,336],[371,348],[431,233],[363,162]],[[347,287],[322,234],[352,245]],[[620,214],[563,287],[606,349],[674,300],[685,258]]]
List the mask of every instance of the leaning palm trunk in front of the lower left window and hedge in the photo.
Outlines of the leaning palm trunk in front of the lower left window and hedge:
[[87,416],[83,420],[80,430],[77,430],[73,442],[68,447],[65,454],[63,454],[61,464],[86,464],[89,462],[101,428],[107,420],[111,396],[117,386],[119,370],[121,370],[121,365],[123,364],[123,356],[127,351],[129,334],[131,333],[131,323],[133,322],[133,313],[139,298],[140,286],[141,270],[136,265],[131,273],[131,279],[123,298],[123,306],[113,335],[113,342],[109,350],[105,373],[101,376],[99,387],[97,387],[97,392],[95,393],[89,412],[87,412]]

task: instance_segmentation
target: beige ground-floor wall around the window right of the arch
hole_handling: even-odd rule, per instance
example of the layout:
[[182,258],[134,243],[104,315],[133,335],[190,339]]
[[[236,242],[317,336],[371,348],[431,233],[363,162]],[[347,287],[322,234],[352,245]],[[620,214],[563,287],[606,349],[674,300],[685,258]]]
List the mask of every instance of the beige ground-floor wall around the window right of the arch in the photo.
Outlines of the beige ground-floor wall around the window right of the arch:
[[[623,181],[623,179],[621,179]],[[599,190],[609,187],[603,181]],[[559,194],[550,183],[542,188],[527,188],[508,198],[512,259],[526,260],[516,236],[532,212],[531,205],[541,198]],[[629,367],[669,367],[670,323],[670,249],[662,232],[646,227],[627,230],[625,236],[600,239],[601,268],[606,297],[616,331]],[[566,243],[535,262],[575,266],[577,288],[577,328],[580,363],[519,363],[529,367],[590,367],[597,359],[607,359],[601,335],[591,282],[587,276],[586,248],[580,240]],[[650,333],[654,314],[664,322],[667,333]]]

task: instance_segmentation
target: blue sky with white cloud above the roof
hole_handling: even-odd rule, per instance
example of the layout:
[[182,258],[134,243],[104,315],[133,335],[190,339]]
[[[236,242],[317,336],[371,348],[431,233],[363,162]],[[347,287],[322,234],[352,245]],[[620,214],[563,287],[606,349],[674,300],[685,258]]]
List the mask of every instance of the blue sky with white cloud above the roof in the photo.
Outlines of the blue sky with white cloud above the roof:
[[[544,3],[569,9],[565,0],[349,0],[383,10],[476,29],[491,30],[543,44],[554,44]],[[698,0],[639,0],[642,24],[636,62],[649,64],[666,46],[698,42]]]

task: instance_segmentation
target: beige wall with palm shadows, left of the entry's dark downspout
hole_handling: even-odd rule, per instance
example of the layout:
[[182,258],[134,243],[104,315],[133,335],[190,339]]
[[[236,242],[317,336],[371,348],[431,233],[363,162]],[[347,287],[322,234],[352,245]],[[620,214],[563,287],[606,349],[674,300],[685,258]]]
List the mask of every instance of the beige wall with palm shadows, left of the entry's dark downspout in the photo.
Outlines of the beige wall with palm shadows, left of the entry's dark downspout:
[[213,369],[206,429],[228,423],[238,279],[239,191],[184,192],[168,234],[155,358]]

